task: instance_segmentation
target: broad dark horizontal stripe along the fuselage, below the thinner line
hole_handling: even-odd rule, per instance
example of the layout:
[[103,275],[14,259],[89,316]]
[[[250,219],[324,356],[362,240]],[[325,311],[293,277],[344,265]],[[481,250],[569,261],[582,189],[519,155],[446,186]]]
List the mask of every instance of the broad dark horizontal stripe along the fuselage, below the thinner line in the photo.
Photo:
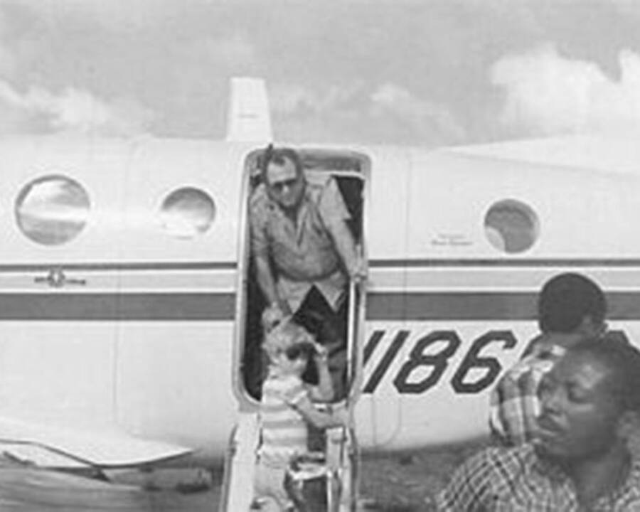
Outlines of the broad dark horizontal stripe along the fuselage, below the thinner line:
[[[373,321],[533,320],[537,294],[526,292],[370,293]],[[611,292],[609,319],[640,320],[640,292]],[[232,293],[4,293],[0,320],[232,321]]]

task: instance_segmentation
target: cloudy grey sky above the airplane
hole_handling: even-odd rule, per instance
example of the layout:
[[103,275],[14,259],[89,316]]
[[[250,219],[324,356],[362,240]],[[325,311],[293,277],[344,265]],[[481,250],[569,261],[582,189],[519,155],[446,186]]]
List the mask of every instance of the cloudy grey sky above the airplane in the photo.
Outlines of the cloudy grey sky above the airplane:
[[640,127],[634,0],[0,0],[0,133],[471,144]]

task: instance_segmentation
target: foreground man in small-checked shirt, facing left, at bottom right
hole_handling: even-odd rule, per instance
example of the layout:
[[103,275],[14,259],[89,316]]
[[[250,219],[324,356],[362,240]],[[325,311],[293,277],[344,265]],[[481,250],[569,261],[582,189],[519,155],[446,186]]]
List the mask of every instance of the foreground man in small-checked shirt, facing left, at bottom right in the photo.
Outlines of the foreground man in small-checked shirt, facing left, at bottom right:
[[640,352],[584,338],[540,384],[538,436],[489,447],[454,472],[439,511],[640,511],[627,439],[640,410]]

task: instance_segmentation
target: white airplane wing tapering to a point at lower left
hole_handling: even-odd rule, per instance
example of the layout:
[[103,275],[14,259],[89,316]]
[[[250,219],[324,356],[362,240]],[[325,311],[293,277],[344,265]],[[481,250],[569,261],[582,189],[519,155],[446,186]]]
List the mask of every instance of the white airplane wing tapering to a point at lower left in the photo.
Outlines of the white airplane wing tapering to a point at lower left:
[[139,466],[192,450],[122,431],[81,431],[0,416],[0,453],[36,466],[80,469]]

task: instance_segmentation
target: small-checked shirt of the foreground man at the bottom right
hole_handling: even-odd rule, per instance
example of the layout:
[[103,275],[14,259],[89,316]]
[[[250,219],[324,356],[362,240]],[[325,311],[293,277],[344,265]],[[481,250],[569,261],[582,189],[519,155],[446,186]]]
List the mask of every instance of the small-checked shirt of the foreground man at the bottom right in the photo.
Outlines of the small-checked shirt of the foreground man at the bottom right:
[[[437,496],[440,512],[582,512],[571,479],[532,444],[491,447],[469,458]],[[640,465],[589,512],[640,512]]]

